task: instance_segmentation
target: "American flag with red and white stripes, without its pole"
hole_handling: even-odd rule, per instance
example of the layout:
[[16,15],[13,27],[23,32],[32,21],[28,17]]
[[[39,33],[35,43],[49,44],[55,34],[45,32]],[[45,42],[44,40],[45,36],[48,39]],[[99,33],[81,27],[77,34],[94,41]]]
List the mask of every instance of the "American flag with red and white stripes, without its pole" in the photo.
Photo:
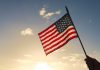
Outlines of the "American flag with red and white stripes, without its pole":
[[46,55],[77,38],[77,32],[68,13],[38,35]]

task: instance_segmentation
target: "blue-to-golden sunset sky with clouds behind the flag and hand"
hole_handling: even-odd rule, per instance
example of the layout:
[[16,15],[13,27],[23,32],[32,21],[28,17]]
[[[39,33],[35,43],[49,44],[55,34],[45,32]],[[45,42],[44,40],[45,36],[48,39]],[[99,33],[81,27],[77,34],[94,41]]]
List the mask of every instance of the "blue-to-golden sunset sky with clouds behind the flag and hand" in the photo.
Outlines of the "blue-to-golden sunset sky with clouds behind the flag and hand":
[[0,70],[88,70],[78,38],[46,56],[38,37],[65,5],[87,54],[100,61],[100,0],[0,0]]

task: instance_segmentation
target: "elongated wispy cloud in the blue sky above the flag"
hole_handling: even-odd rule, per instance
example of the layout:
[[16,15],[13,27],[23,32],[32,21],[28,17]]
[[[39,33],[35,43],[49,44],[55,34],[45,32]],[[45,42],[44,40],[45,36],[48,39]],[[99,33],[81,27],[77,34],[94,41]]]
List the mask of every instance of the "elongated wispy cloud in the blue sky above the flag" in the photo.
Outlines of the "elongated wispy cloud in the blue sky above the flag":
[[61,11],[58,10],[56,12],[47,12],[45,8],[42,8],[39,13],[43,18],[49,19],[53,15],[59,15]]

